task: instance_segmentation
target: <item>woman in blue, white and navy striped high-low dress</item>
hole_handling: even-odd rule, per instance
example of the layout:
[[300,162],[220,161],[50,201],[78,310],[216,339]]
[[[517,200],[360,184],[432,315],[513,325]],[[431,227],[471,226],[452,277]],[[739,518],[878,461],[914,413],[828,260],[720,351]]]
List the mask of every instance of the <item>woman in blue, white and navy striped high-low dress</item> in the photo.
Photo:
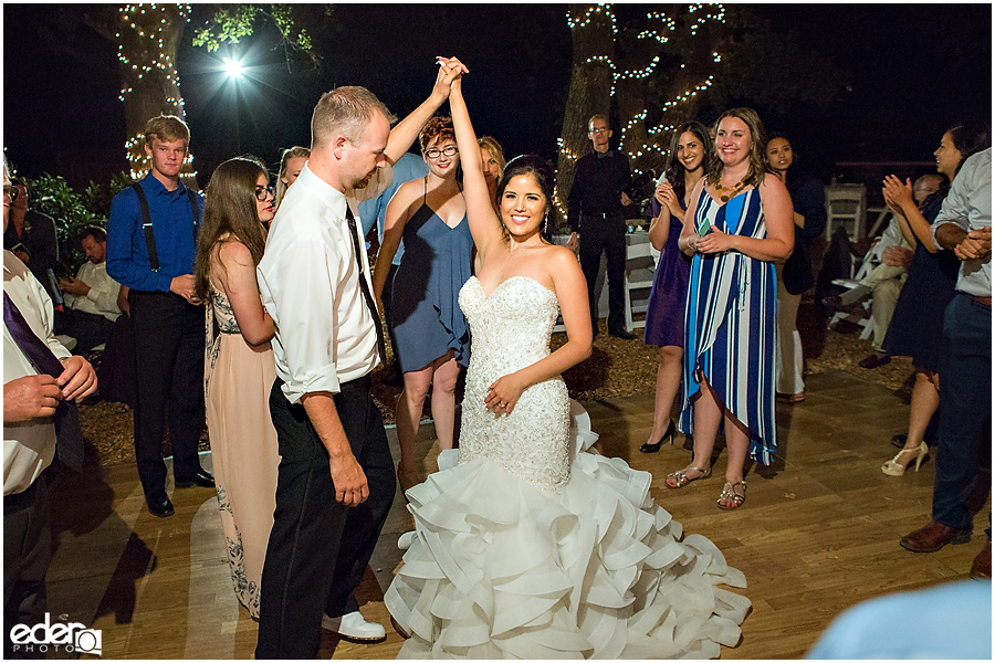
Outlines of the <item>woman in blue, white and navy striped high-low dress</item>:
[[694,435],[691,464],[667,477],[680,488],[711,474],[724,429],[729,463],[719,507],[746,499],[750,457],[769,464],[777,446],[774,261],[794,246],[792,199],[764,162],[764,129],[751,108],[726,110],[715,136],[718,159],[691,194],[681,251],[693,255],[684,312],[680,430]]

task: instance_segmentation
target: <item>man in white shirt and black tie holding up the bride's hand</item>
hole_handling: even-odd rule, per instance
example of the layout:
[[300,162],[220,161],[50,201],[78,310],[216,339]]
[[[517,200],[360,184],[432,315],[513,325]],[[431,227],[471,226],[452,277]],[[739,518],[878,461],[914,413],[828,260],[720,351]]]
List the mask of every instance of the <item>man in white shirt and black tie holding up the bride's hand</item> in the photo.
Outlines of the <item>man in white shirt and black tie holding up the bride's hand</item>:
[[[346,197],[377,196],[397,160],[448,97],[458,73],[443,61],[432,96],[392,131],[363,87],[318,101],[307,165],[276,212],[258,267],[276,325],[270,412],[281,463],[260,590],[256,659],[313,659],[322,611],[359,639],[384,638],[352,596],[394,499],[394,462],[370,372],[383,329],[369,261]],[[377,627],[370,629],[369,627]]]

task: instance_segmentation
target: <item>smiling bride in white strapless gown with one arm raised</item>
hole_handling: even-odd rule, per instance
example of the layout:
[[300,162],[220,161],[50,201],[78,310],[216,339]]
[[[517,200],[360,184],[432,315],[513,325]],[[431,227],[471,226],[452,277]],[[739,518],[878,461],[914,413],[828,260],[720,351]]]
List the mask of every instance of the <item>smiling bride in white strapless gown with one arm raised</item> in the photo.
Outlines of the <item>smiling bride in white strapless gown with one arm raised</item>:
[[[409,635],[399,657],[718,656],[750,601],[716,586],[745,578],[706,538],[682,538],[649,473],[572,459],[561,373],[590,355],[584,276],[541,234],[554,177],[543,159],[507,164],[499,219],[461,85],[450,105],[478,248],[460,292],[472,352],[459,463],[407,493],[416,532],[385,599]],[[561,312],[568,341],[551,354]]]

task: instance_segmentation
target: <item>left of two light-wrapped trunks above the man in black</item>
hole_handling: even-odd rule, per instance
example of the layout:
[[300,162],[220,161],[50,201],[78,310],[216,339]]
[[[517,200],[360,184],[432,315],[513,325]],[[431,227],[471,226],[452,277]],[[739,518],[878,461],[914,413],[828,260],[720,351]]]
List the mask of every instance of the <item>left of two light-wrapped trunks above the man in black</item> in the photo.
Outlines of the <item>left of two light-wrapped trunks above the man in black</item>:
[[[574,45],[570,90],[567,94],[559,158],[556,164],[558,208],[566,217],[566,201],[574,182],[576,160],[590,151],[587,120],[591,115],[607,116],[611,105],[611,69],[605,57],[614,59],[611,19],[604,11],[586,13],[588,6],[570,6],[568,21]],[[587,21],[587,22],[585,22]],[[593,60],[597,59],[597,60]],[[588,62],[590,60],[590,62]]]

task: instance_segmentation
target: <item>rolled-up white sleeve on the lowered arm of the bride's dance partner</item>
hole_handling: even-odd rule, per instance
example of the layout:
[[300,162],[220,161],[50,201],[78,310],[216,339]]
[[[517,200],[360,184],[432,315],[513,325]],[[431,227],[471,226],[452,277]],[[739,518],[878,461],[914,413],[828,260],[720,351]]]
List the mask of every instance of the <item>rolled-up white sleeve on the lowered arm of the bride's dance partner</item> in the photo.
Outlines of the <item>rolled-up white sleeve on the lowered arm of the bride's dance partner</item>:
[[283,393],[292,403],[305,393],[339,391],[336,312],[345,264],[327,243],[301,240],[284,246],[273,263],[279,280],[268,282],[258,272],[266,309],[280,327],[274,343],[293,339],[281,346],[286,362]]

